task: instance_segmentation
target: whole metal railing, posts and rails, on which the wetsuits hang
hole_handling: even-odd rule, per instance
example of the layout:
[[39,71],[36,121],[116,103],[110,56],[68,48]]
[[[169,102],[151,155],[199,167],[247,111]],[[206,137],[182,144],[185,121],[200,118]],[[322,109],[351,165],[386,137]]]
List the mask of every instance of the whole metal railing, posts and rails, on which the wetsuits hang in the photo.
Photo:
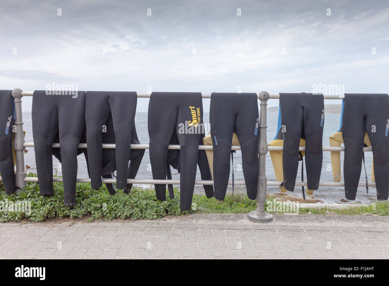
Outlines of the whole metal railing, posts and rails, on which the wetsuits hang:
[[[149,98],[150,94],[138,93],[139,98]],[[25,147],[34,147],[33,142],[25,142],[23,136],[23,118],[21,98],[23,96],[33,96],[33,92],[22,91],[19,88],[12,90],[12,96],[15,98],[15,125],[16,133],[14,139],[14,149],[16,151],[16,187],[23,189],[26,182],[37,182],[37,177],[27,177],[24,163],[24,149]],[[210,94],[203,94],[202,98],[211,98]],[[268,151],[282,151],[282,146],[268,146],[266,138],[266,106],[267,101],[271,99],[279,99],[279,95],[269,95],[266,91],[261,91],[257,98],[260,100],[260,115],[259,115],[259,140],[258,140],[258,154],[259,154],[259,176],[258,176],[258,194],[257,194],[257,209],[248,214],[250,221],[258,223],[268,223],[273,220],[272,214],[265,212],[266,201],[266,186],[280,186],[281,182],[267,181],[266,178],[266,154]],[[325,95],[324,99],[343,99],[344,95]],[[18,132],[19,131],[19,132]],[[21,132],[20,132],[21,131]],[[54,143],[53,147],[60,147],[59,143]],[[86,144],[79,144],[79,148],[86,148]],[[115,148],[115,144],[103,144],[103,148]],[[149,149],[149,144],[131,144],[131,149]],[[180,149],[180,145],[169,145],[168,149]],[[201,150],[212,150],[212,146],[199,146]],[[231,146],[231,150],[240,150],[240,146]],[[305,151],[305,147],[300,147],[300,151]],[[323,151],[344,151],[343,147],[323,147]],[[371,147],[364,147],[363,151],[371,151]],[[1,179],[1,177],[0,177]],[[62,182],[62,178],[53,177],[54,182]],[[89,178],[77,178],[77,182],[90,182]],[[104,183],[115,183],[116,179],[102,179]],[[179,180],[157,180],[157,179],[128,179],[127,183],[131,184],[180,184]],[[197,180],[196,185],[213,185],[210,180]],[[228,182],[232,185],[232,181]],[[235,185],[244,186],[244,181],[235,181]],[[364,182],[360,182],[359,186],[364,186]],[[307,186],[307,182],[296,182],[296,186]],[[319,186],[344,186],[343,182],[320,182]],[[375,186],[375,183],[371,183]]]

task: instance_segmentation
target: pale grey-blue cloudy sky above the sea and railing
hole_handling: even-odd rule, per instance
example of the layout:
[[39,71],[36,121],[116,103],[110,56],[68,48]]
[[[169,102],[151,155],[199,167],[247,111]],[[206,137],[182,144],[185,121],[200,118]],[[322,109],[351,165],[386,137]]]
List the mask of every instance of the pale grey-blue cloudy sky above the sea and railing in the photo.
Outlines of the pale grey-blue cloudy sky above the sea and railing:
[[388,93],[388,3],[2,1],[0,88]]

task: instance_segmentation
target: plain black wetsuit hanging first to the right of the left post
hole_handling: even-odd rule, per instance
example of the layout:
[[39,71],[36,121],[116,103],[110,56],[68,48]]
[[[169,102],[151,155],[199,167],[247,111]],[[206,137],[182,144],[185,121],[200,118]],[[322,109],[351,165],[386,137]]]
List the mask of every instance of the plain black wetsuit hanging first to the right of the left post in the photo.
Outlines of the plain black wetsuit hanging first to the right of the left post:
[[[54,91],[53,91],[54,93]],[[85,92],[61,92],[46,95],[36,90],[32,100],[32,133],[35,162],[39,179],[39,193],[51,196],[53,192],[52,144],[58,133],[60,141],[64,205],[74,205],[77,179],[77,153],[85,121]]]

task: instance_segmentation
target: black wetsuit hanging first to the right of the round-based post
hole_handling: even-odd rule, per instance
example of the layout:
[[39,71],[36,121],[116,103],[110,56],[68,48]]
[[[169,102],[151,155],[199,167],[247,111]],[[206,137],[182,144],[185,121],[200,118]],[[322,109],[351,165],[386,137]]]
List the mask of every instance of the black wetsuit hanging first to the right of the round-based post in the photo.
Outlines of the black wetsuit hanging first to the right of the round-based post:
[[324,97],[312,93],[280,93],[280,107],[284,187],[294,190],[298,161],[302,158],[298,151],[302,138],[305,139],[307,187],[316,190],[323,162]]

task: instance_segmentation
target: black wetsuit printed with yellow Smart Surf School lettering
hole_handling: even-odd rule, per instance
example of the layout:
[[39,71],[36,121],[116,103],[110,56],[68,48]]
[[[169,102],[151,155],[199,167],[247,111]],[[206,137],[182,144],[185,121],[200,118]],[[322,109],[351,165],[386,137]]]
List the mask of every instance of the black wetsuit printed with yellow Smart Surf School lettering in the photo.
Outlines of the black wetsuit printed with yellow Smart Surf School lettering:
[[[204,137],[202,95],[184,92],[151,93],[148,112],[150,162],[153,179],[171,178],[170,166],[180,172],[180,208],[189,210],[196,179],[196,165],[201,178],[211,180],[207,155],[198,150]],[[180,144],[180,150],[168,149],[169,144]],[[204,185],[207,198],[213,188]],[[166,199],[166,184],[155,184],[158,200]],[[172,189],[169,197],[172,198]]]

